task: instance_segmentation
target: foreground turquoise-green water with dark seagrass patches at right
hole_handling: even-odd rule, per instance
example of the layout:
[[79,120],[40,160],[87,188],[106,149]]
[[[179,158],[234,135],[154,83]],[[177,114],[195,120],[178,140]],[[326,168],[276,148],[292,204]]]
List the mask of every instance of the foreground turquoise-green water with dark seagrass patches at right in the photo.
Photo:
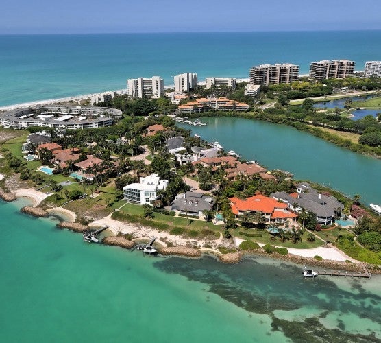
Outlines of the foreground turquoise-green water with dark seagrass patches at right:
[[147,257],[84,244],[24,204],[0,202],[1,342],[301,342],[311,324],[308,342],[381,340],[380,276],[310,281],[262,257]]

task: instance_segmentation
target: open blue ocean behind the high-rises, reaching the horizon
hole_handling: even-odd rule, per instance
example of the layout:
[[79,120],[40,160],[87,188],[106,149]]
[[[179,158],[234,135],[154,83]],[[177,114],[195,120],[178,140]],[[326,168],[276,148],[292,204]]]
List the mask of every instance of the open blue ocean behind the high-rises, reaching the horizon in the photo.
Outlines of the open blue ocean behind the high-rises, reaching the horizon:
[[179,73],[248,78],[264,63],[380,60],[381,31],[0,36],[0,106],[126,88],[127,78]]

